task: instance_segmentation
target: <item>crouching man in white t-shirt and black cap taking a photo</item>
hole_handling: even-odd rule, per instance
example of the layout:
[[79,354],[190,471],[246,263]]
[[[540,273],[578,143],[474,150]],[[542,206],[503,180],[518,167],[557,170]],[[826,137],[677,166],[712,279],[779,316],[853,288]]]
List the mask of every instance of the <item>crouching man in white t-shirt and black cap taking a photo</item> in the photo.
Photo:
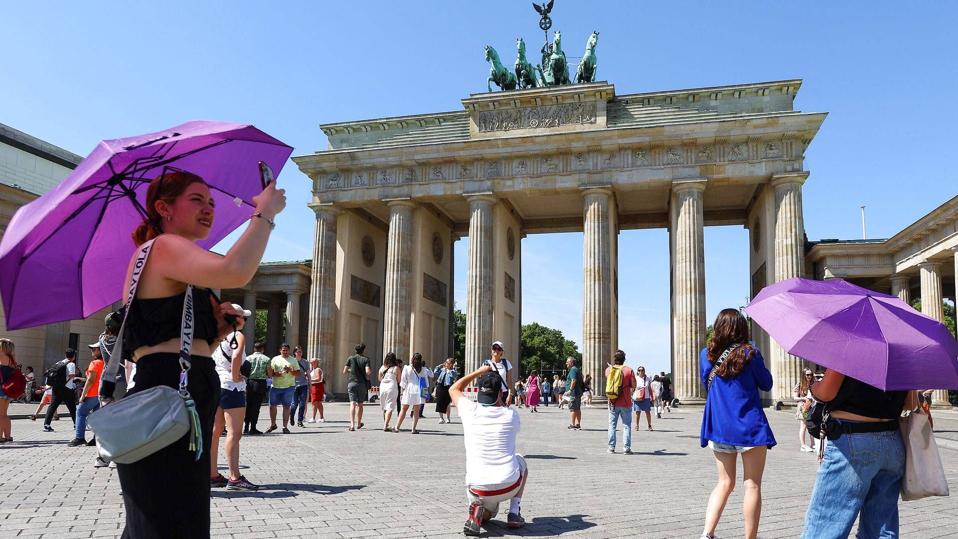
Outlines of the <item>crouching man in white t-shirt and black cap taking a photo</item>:
[[[472,402],[463,390],[476,381],[478,397]],[[508,527],[521,527],[525,520],[519,510],[529,471],[526,459],[515,453],[519,434],[519,412],[502,402],[502,377],[489,365],[460,378],[449,387],[449,396],[463,422],[466,441],[466,495],[469,517],[466,535],[479,535],[482,523],[509,501]]]

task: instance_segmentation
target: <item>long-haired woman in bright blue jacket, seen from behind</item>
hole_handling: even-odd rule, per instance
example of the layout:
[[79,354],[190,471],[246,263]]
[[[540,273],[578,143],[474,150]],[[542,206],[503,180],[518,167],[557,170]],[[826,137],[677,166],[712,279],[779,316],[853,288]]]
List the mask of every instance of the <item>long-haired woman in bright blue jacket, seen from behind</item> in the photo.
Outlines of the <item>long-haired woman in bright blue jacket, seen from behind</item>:
[[[715,537],[722,510],[735,488],[739,454],[745,485],[745,538],[755,539],[762,514],[765,453],[776,443],[762,410],[759,389],[772,388],[772,374],[765,367],[762,352],[748,343],[748,322],[738,310],[723,310],[713,327],[712,340],[698,358],[702,384],[708,388],[700,442],[715,452],[719,480],[705,510],[702,539]],[[716,364],[719,366],[713,374]]]

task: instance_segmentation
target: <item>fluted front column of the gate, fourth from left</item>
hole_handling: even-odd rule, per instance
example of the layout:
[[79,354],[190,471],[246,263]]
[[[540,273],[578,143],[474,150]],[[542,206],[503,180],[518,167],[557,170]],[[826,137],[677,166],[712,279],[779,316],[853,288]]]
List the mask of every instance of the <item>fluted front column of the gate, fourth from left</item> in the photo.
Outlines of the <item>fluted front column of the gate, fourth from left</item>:
[[592,387],[605,387],[605,363],[612,358],[612,190],[584,189],[582,198],[582,376],[591,374]]

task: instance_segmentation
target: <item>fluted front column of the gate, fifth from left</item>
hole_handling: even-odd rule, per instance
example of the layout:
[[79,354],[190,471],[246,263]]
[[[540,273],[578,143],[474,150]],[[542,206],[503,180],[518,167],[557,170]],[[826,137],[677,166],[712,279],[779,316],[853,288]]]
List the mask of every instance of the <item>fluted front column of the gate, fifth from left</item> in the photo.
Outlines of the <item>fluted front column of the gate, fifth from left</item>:
[[673,382],[682,404],[704,404],[698,354],[705,347],[704,181],[673,182],[671,217]]

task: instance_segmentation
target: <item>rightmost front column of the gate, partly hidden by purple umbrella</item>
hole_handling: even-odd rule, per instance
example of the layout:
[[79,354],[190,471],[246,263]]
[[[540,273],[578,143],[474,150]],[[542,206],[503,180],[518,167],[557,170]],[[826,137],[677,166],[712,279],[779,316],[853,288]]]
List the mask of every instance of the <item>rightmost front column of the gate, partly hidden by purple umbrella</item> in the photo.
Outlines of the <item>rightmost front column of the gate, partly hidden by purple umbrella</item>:
[[[805,274],[805,221],[802,218],[802,184],[809,173],[772,175],[775,188],[775,281],[784,281]],[[792,389],[802,378],[805,364],[787,354],[771,340],[772,400],[785,404],[795,402]]]

